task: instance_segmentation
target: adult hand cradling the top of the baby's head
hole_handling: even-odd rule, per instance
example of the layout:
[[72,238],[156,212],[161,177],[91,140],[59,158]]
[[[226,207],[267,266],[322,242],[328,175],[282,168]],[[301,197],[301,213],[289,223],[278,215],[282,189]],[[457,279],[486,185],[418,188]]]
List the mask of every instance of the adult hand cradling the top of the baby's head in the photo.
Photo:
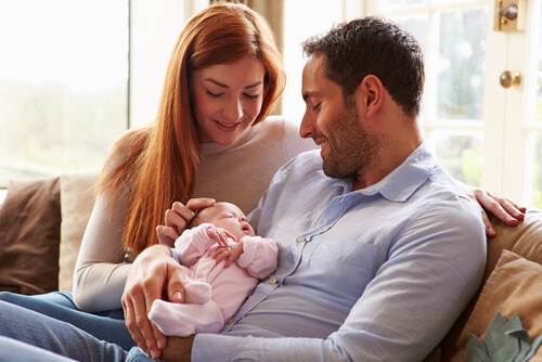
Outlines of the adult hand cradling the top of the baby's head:
[[215,205],[212,198],[191,198],[186,206],[176,202],[166,210],[165,225],[156,227],[156,233],[162,244],[173,247],[175,241],[182,233],[197,210]]

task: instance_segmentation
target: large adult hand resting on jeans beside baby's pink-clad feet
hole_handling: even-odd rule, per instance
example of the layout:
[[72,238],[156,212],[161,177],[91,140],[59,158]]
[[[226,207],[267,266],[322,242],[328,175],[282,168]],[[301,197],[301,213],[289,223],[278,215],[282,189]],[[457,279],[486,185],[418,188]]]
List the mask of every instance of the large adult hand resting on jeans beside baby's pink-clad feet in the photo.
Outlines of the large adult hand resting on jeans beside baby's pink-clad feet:
[[182,302],[183,280],[183,268],[171,258],[169,247],[163,245],[147,247],[130,269],[121,298],[126,326],[136,344],[153,359],[160,357],[167,338],[149,320],[149,310],[164,295],[169,301]]

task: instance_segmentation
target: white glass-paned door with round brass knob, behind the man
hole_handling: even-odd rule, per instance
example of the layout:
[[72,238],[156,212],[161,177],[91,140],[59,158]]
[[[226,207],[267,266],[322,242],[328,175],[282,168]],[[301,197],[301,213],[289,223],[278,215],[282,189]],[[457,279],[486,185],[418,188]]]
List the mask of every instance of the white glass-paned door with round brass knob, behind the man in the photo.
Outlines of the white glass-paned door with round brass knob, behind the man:
[[[494,30],[494,0],[367,0],[365,13],[397,21],[424,48],[422,122],[439,163],[542,207],[542,0],[517,1],[526,27],[517,33]],[[501,86],[506,70],[520,75],[517,87]]]

